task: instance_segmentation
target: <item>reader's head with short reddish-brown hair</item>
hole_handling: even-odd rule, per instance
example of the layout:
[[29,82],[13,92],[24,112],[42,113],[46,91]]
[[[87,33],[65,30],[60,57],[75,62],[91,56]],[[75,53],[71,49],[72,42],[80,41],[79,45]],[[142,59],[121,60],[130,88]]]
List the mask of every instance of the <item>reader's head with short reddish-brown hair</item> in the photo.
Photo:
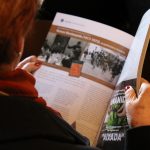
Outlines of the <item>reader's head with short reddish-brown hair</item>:
[[22,53],[37,6],[38,0],[0,0],[0,65],[11,64]]

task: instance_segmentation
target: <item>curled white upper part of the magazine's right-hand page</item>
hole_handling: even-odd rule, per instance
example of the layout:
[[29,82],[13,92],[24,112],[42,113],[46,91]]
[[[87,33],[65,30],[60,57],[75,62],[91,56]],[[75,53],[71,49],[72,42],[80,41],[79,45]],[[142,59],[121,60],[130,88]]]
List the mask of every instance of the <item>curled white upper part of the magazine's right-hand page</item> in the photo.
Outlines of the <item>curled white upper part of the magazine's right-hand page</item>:
[[[150,10],[142,17],[136,32],[130,53],[122,70],[118,84],[123,81],[141,77],[145,53],[150,39]],[[136,90],[139,89],[139,80],[136,80]]]

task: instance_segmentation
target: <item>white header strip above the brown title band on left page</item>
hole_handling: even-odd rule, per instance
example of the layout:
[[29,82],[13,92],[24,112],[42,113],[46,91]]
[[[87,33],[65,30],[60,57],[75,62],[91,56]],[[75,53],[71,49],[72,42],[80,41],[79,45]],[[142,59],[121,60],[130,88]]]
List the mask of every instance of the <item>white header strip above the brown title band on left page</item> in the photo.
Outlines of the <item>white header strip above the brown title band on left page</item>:
[[130,48],[133,40],[133,36],[131,36],[130,34],[111,26],[63,13],[56,14],[53,25],[82,31],[85,33],[96,35],[98,37],[103,37],[104,39],[116,42],[127,48]]

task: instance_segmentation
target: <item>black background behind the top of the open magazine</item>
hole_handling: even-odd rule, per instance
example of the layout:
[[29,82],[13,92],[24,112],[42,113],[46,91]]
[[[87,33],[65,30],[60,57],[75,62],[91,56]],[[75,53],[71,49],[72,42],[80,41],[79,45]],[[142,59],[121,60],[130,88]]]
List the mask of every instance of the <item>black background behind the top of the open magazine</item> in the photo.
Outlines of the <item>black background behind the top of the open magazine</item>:
[[[38,55],[56,12],[98,21],[135,35],[143,14],[149,8],[150,0],[44,0],[32,34],[27,38],[23,57],[33,52]],[[146,54],[142,75],[150,81],[149,53],[150,48]]]

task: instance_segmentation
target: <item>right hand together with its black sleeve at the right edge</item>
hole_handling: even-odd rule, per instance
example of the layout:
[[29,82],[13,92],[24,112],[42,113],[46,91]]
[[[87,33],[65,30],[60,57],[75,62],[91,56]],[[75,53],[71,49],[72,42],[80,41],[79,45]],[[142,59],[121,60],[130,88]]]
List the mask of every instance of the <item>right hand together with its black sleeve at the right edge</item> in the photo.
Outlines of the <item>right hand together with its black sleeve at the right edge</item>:
[[138,95],[126,87],[126,115],[130,129],[126,134],[125,150],[149,149],[150,139],[150,83],[141,79]]

